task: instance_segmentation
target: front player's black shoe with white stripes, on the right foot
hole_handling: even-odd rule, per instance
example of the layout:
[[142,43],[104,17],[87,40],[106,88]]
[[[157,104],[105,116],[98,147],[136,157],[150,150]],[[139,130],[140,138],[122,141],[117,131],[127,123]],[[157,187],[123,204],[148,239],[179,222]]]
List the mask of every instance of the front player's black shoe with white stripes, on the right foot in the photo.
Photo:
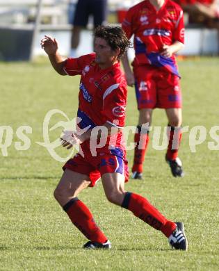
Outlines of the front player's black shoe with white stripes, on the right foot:
[[170,245],[175,249],[187,250],[188,242],[184,231],[184,223],[175,222],[177,229],[168,238]]

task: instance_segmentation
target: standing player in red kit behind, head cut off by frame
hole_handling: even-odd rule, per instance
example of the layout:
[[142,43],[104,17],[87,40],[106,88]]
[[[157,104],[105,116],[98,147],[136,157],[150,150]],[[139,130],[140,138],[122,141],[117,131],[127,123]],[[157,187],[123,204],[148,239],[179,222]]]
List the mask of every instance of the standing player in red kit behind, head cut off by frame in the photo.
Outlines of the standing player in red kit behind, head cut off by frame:
[[[164,108],[168,117],[170,137],[165,159],[173,176],[183,176],[178,158],[182,119],[181,89],[175,58],[175,53],[184,46],[183,11],[170,0],[142,1],[127,11],[122,28],[127,38],[134,35],[136,53],[132,63],[133,72],[127,55],[122,59],[127,83],[136,87],[139,110],[133,178],[142,179],[143,161],[149,141],[148,130],[142,131],[142,125],[151,124],[154,108]],[[143,147],[138,148],[141,132],[145,133],[145,142]]]

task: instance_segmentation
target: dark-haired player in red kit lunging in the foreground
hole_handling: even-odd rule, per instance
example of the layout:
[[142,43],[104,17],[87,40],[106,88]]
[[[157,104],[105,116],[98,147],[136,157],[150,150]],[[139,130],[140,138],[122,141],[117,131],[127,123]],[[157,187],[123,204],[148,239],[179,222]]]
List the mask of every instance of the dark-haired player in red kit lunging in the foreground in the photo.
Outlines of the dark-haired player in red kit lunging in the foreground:
[[[54,38],[45,36],[42,48],[51,65],[61,75],[81,75],[78,116],[81,122],[76,131],[65,131],[63,147],[80,144],[81,151],[63,166],[63,176],[54,191],[54,197],[83,233],[88,249],[111,248],[111,243],[95,223],[88,207],[78,199],[79,192],[94,186],[102,179],[107,199],[127,208],[141,220],[161,231],[175,249],[187,249],[184,224],[167,220],[147,199],[124,190],[128,179],[126,151],[122,143],[122,127],[127,104],[127,85],[120,69],[120,58],[129,40],[120,27],[99,26],[94,33],[95,54],[79,58],[63,58],[58,54]],[[102,126],[96,140],[106,137],[104,147],[92,154],[92,133]],[[86,129],[86,131],[84,130]],[[82,132],[83,130],[83,132]]]

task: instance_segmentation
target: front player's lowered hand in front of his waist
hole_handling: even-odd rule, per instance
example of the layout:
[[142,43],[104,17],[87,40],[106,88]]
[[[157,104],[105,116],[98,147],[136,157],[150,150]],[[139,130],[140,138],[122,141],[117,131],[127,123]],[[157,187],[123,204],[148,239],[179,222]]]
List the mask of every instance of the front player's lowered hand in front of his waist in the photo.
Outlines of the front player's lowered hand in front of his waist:
[[79,135],[76,131],[63,131],[63,136],[60,140],[62,141],[63,147],[71,149],[74,145],[80,145],[83,140],[83,135]]

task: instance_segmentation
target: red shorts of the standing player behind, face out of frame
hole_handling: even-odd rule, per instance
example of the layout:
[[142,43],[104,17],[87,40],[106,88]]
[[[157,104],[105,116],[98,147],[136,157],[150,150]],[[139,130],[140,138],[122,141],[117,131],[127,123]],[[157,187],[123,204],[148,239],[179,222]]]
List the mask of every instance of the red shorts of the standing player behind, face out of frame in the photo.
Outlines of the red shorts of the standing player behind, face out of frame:
[[138,109],[181,108],[179,77],[158,67],[133,68]]

